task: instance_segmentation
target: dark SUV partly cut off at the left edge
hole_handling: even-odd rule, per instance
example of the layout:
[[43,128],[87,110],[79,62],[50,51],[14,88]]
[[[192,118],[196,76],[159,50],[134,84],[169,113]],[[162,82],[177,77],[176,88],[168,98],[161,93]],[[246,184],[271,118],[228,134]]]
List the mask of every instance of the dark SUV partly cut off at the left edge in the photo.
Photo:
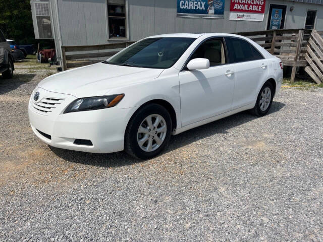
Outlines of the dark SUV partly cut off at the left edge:
[[11,55],[10,45],[0,30],[0,73],[4,78],[12,78],[14,76],[14,58]]

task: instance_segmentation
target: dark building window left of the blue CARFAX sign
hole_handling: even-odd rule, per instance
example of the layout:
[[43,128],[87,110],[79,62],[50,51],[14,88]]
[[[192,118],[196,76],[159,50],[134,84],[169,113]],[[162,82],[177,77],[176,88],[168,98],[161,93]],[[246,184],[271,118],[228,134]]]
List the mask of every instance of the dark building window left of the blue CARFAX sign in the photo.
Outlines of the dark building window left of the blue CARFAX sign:
[[109,38],[127,38],[126,0],[107,0]]

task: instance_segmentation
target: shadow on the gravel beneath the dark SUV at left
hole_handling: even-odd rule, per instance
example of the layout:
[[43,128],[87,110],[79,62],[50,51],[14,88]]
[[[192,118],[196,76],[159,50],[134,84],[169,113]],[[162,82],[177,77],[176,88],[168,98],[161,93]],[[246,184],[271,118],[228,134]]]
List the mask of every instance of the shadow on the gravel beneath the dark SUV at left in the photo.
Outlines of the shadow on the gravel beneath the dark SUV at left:
[[35,76],[35,74],[14,74],[12,79],[5,79],[0,75],[0,95],[11,92],[21,85],[30,82]]

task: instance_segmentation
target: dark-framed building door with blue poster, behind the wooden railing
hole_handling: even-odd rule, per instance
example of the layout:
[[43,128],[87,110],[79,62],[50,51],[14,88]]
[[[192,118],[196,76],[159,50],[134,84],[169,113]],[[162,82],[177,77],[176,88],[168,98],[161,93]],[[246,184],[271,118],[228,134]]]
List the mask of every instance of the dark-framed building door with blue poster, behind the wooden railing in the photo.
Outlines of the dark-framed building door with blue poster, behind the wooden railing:
[[283,29],[285,24],[286,5],[271,4],[267,29]]

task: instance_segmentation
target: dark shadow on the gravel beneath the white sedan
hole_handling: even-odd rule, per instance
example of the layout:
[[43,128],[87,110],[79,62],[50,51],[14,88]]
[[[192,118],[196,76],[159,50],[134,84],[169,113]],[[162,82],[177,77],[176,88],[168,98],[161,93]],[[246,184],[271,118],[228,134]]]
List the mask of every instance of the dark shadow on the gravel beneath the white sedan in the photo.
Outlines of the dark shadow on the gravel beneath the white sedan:
[[[270,112],[268,112],[267,115],[279,111],[284,106],[285,104],[282,102],[273,101],[271,110]],[[180,147],[186,146],[195,141],[207,138],[214,134],[227,134],[227,130],[248,123],[255,118],[259,117],[251,115],[248,111],[243,111],[231,115],[229,117],[225,117],[220,120],[214,121],[212,123],[188,130],[179,135],[172,136],[170,144],[167,147],[167,149],[163,152],[163,154],[176,150]],[[142,162],[141,160],[136,160],[130,157],[125,152],[95,154],[80,151],[64,150],[51,146],[49,146],[49,148],[53,153],[55,153],[57,156],[61,157],[66,161],[93,166],[118,167]]]

